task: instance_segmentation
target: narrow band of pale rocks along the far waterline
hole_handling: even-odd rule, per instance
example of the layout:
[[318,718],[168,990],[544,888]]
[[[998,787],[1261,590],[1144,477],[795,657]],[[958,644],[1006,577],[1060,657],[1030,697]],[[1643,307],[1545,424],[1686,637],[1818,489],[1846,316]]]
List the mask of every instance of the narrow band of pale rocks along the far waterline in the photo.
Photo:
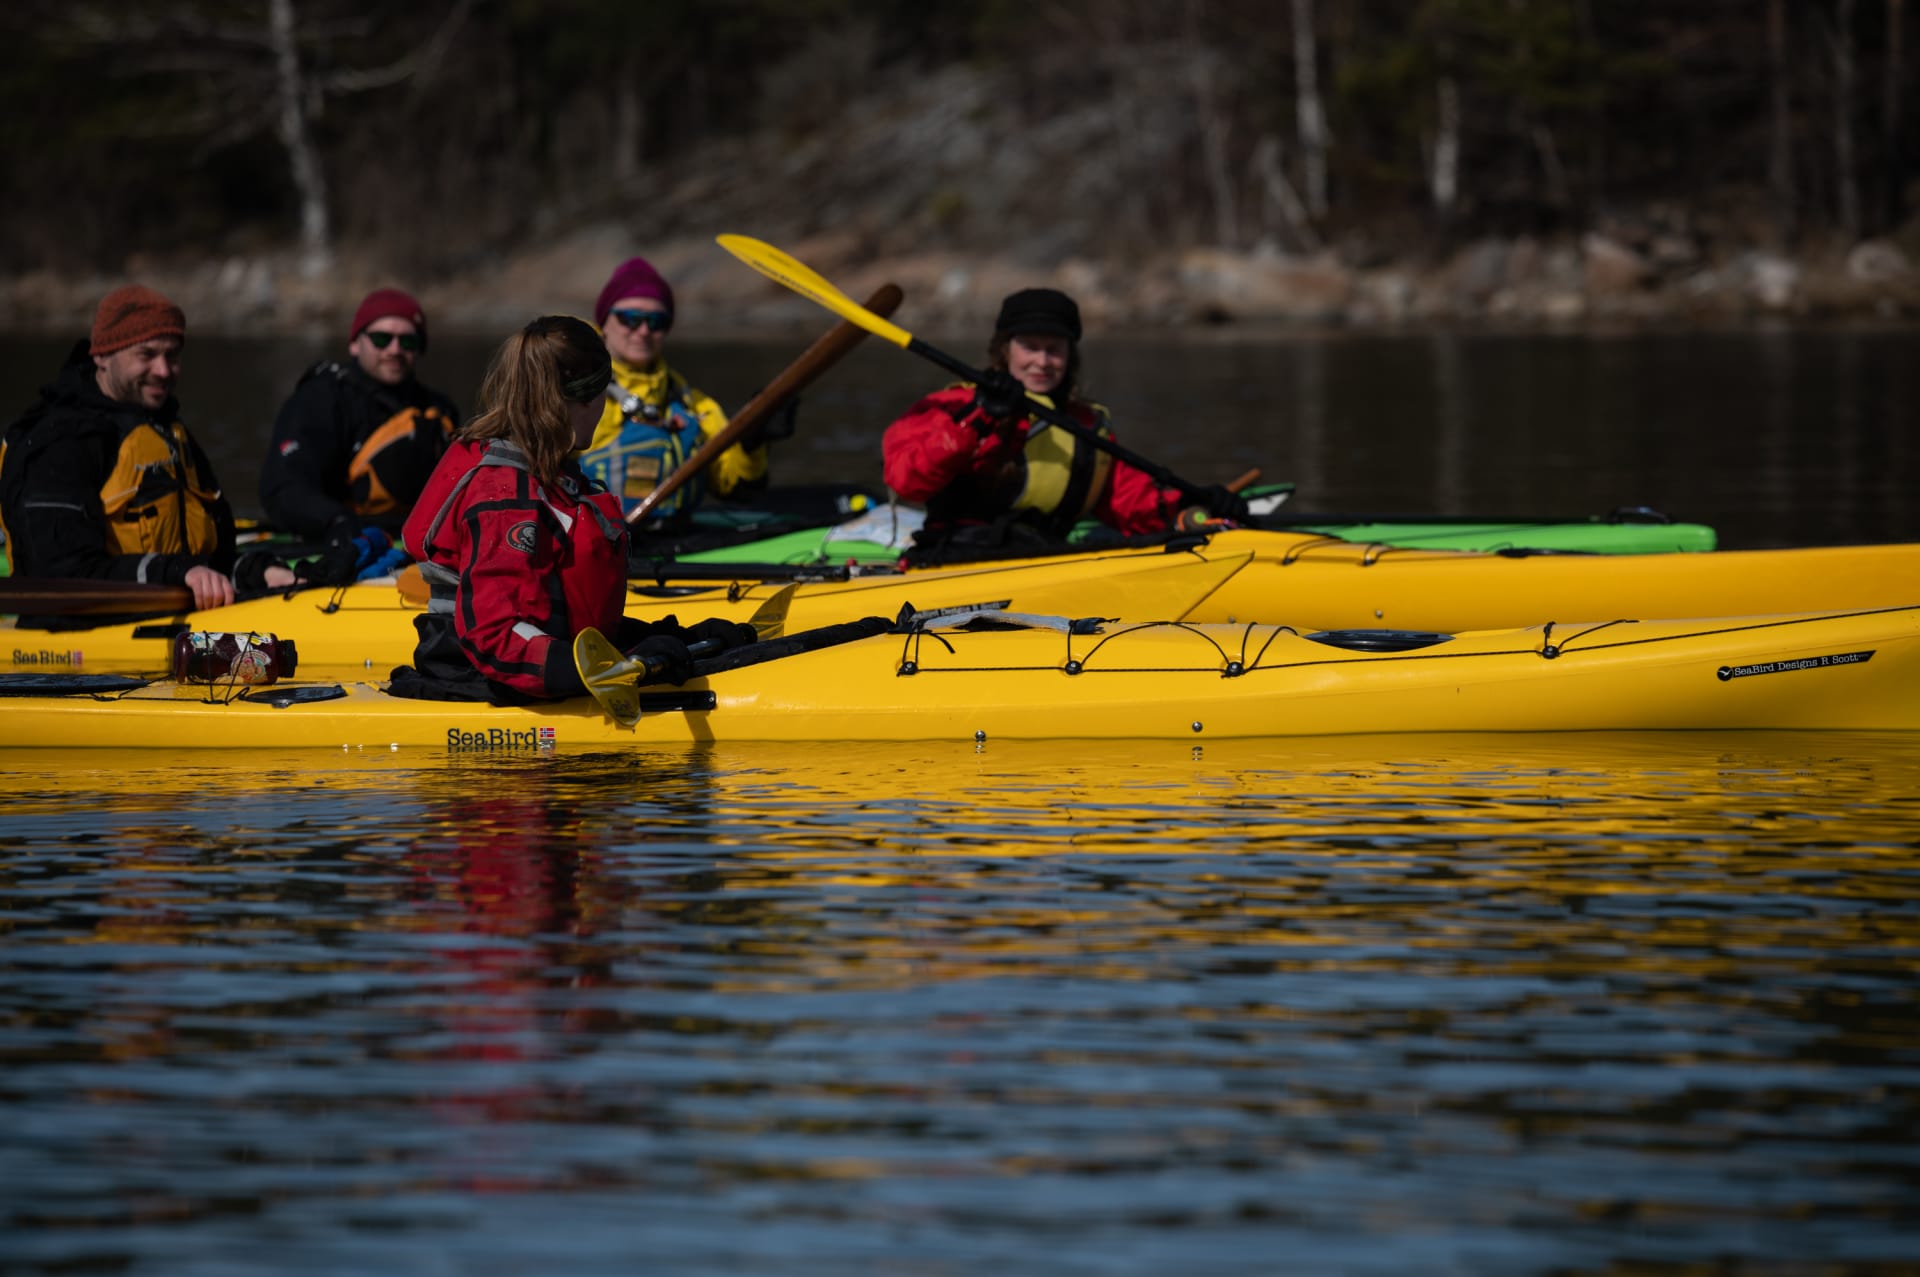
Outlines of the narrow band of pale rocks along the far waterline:
[[[1438,263],[1354,265],[1336,252],[1192,248],[1140,261],[1068,257],[1033,269],[966,252],[868,257],[860,236],[806,236],[781,248],[852,298],[900,284],[912,325],[973,330],[1014,288],[1050,284],[1081,301],[1089,330],[1309,325],[1352,330],[1501,325],[1747,325],[1764,321],[1907,321],[1920,317],[1920,273],[1889,240],[1845,253],[1741,250],[1709,257],[1688,240],[1590,232],[1578,240],[1476,240]],[[121,275],[36,271],[0,280],[0,326],[83,328],[102,294],[134,278],[173,296],[202,332],[326,330],[371,288],[411,286],[445,330],[490,332],[541,311],[580,311],[607,271],[645,253],[674,280],[687,332],[783,332],[818,326],[820,309],[770,284],[705,238],[639,244],[593,225],[547,248],[440,280],[394,278],[344,255],[305,275],[292,255],[159,261]]]

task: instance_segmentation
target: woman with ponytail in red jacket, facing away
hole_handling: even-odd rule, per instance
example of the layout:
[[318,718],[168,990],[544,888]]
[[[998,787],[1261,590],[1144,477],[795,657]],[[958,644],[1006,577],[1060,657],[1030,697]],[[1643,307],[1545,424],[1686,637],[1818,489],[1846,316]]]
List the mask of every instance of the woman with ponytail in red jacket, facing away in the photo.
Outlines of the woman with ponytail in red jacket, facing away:
[[407,553],[432,591],[415,620],[413,664],[394,693],[453,701],[586,695],[574,636],[593,626],[685,682],[687,643],[726,649],[753,628],[622,616],[626,522],[620,501],[574,453],[593,440],[612,369],[584,319],[543,315],[501,342],[480,384],[480,415],[453,438],[407,518]]

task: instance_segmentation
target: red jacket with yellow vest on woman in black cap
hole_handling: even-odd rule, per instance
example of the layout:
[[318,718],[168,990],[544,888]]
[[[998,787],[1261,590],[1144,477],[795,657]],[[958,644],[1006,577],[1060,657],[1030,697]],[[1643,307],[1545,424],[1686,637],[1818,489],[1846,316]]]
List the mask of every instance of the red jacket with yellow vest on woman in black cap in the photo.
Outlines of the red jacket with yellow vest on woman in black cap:
[[[1112,438],[1108,411],[1073,399],[1083,426]],[[1081,518],[1119,532],[1162,532],[1169,494],[1150,476],[1116,463],[1087,440],[1039,419],[991,422],[973,403],[973,386],[935,390],[881,440],[887,488],[927,507],[927,524],[991,524],[1008,517],[1048,536],[1066,536]]]

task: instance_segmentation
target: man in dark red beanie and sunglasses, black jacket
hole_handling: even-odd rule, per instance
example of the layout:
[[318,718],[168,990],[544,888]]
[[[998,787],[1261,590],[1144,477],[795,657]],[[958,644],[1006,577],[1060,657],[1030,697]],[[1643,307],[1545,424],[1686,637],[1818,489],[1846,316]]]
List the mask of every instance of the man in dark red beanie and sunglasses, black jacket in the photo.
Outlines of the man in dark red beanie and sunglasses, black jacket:
[[273,422],[261,505],[275,526],[326,543],[330,580],[380,559],[459,424],[453,401],[413,374],[424,351],[426,311],[378,288],[353,311],[348,359],[307,369]]

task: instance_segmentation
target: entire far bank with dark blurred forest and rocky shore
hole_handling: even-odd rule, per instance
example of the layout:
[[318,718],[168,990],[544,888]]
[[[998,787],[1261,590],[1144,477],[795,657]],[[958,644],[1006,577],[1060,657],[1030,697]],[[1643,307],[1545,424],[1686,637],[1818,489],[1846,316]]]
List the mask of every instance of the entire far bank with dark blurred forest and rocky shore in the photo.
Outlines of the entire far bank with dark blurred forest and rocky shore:
[[[1905,0],[10,0],[0,323],[1920,313]],[[697,305],[689,305],[697,298]]]

